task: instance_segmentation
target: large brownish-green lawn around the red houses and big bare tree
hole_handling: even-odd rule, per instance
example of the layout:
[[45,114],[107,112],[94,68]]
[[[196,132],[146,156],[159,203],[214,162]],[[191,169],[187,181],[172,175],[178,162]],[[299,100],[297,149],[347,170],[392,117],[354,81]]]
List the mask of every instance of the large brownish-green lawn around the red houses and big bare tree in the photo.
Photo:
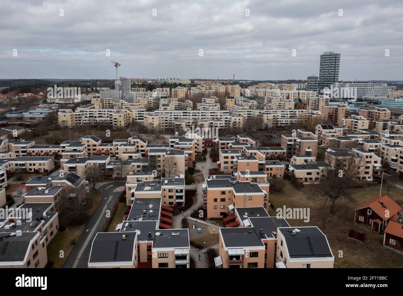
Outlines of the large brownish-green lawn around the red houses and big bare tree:
[[[355,201],[339,199],[335,203],[335,213],[330,215],[329,205],[321,209],[323,204],[316,200],[308,199],[310,186],[305,185],[297,189],[288,180],[283,180],[282,193],[270,193],[270,202],[274,208],[310,208],[310,221],[304,223],[303,219],[287,219],[291,226],[318,226],[327,236],[334,258],[334,267],[361,267],[361,268],[387,268],[403,267],[403,256],[383,247],[383,235],[372,232],[365,226],[357,226],[353,223],[353,209],[370,199],[379,196],[380,185],[364,188],[353,188]],[[386,195],[386,190],[382,190]],[[389,196],[399,205],[403,204],[403,190],[393,187]],[[270,216],[275,216],[276,211],[269,211]],[[366,231],[366,240],[359,242],[348,238],[348,230],[351,227],[362,227]],[[342,252],[339,252],[342,251]],[[342,257],[339,257],[342,254]]]

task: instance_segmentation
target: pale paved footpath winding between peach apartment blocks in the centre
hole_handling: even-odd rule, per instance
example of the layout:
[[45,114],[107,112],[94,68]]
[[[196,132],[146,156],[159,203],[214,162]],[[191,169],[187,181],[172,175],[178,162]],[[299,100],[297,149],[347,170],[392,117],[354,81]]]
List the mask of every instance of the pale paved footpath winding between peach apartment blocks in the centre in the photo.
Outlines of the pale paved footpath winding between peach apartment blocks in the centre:
[[[197,162],[196,163],[196,170],[200,170],[204,174],[204,178],[209,177],[209,170],[211,168],[216,168],[217,164],[212,163],[211,158],[206,155],[206,162]],[[194,203],[189,209],[184,211],[183,213],[180,213],[179,215],[176,215],[172,218],[172,228],[174,229],[179,229],[182,228],[182,218],[183,217],[189,217],[195,209],[198,207],[201,207],[203,205],[203,191],[202,191],[202,183],[197,183],[197,184],[191,184],[191,185],[186,185],[185,189],[197,189],[197,201]],[[199,260],[199,258],[197,258]]]

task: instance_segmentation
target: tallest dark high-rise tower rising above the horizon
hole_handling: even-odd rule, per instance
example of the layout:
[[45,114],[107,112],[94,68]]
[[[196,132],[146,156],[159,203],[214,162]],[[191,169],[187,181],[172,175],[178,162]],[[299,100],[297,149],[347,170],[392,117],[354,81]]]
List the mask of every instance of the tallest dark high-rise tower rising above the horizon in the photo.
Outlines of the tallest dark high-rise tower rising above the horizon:
[[340,54],[334,52],[324,52],[320,55],[319,64],[319,92],[322,93],[324,87],[329,87],[339,81]]

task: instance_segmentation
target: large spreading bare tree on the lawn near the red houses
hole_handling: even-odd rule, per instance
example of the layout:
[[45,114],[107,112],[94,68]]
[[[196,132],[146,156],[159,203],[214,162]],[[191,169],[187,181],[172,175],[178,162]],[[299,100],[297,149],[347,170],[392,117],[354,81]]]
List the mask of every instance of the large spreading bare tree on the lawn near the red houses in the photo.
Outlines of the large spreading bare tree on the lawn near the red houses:
[[359,177],[365,161],[353,154],[345,157],[333,157],[332,160],[327,155],[325,159],[326,164],[331,163],[334,167],[325,166],[319,183],[312,186],[309,198],[322,202],[322,207],[330,202],[330,214],[332,214],[334,204],[340,197],[349,201],[354,200],[351,188],[355,185],[354,179]]

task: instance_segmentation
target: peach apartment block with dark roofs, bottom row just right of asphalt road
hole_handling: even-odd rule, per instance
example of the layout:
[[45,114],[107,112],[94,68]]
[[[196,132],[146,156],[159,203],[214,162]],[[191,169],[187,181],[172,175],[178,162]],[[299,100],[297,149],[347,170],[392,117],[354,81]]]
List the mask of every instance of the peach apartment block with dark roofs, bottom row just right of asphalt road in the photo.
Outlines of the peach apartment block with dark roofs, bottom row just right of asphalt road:
[[189,231],[166,229],[162,222],[167,214],[172,215],[172,209],[161,205],[161,199],[136,199],[119,232],[97,234],[88,267],[189,268]]

